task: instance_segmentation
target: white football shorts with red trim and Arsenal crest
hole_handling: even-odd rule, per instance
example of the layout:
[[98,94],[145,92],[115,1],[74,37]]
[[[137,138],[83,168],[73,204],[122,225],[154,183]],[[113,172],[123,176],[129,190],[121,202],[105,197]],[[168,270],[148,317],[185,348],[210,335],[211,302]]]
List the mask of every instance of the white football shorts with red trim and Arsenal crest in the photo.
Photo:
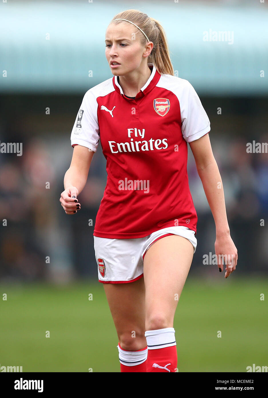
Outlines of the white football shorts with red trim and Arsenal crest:
[[143,276],[143,259],[148,248],[158,239],[180,235],[188,239],[196,251],[195,232],[186,226],[162,228],[144,238],[111,239],[94,236],[95,258],[99,282],[128,283]]

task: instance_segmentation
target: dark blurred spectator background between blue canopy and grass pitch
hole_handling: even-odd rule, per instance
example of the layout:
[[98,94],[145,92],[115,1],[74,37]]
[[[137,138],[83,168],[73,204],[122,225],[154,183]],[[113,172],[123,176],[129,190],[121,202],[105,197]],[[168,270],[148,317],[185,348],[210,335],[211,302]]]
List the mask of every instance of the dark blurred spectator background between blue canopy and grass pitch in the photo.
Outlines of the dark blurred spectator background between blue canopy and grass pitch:
[[[59,201],[73,152],[70,133],[83,95],[1,97],[0,142],[21,144],[23,154],[0,153],[2,281],[97,281],[93,229],[107,178],[100,144],[78,197],[81,211],[68,216]],[[267,273],[268,154],[248,153],[247,144],[268,142],[268,100],[200,99],[211,122],[209,135],[239,266],[246,273]],[[213,266],[204,265],[203,258],[215,254],[215,224],[189,146],[188,177],[198,215],[191,272],[210,275]]]

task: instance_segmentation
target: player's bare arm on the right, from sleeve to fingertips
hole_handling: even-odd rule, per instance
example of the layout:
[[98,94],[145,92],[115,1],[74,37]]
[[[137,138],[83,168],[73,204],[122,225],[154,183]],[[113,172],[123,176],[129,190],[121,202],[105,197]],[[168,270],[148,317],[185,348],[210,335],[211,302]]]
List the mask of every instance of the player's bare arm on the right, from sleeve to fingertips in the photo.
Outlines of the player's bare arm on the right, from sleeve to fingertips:
[[[224,192],[218,165],[212,153],[208,134],[200,139],[189,142],[194,155],[198,175],[202,181],[204,192],[210,205],[216,226],[215,252],[218,258],[219,271],[223,270],[223,264],[219,256],[229,255],[232,267],[228,267],[225,273],[227,278],[235,270],[237,265],[237,248],[230,236],[230,228],[227,221]],[[230,263],[228,262],[230,265]]]

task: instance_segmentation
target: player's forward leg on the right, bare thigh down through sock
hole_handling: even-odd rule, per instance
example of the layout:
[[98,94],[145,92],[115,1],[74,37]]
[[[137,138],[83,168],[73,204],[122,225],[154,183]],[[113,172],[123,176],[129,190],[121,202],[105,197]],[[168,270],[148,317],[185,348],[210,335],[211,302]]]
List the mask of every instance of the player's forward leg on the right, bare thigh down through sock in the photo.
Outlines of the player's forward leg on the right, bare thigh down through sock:
[[155,242],[144,256],[147,372],[177,371],[173,319],[193,251],[188,239],[171,235]]

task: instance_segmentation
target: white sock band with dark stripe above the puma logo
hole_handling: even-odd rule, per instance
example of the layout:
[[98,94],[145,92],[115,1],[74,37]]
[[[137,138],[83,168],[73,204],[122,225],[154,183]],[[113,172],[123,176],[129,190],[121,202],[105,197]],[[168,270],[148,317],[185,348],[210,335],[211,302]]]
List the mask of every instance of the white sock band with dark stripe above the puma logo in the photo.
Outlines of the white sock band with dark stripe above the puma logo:
[[174,328],[146,330],[144,336],[146,337],[148,349],[158,349],[177,345]]

